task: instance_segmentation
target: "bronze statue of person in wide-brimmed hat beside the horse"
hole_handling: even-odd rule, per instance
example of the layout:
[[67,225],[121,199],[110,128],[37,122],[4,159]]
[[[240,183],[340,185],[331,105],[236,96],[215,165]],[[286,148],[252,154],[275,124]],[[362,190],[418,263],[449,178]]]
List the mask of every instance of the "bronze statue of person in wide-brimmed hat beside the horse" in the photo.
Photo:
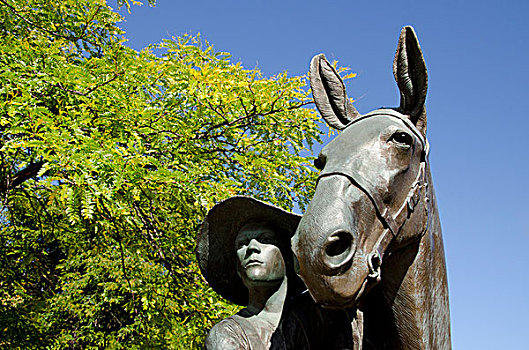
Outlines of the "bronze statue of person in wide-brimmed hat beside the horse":
[[213,207],[197,255],[211,287],[245,306],[216,324],[207,349],[353,349],[356,315],[318,307],[292,268],[290,239],[300,216],[251,197]]

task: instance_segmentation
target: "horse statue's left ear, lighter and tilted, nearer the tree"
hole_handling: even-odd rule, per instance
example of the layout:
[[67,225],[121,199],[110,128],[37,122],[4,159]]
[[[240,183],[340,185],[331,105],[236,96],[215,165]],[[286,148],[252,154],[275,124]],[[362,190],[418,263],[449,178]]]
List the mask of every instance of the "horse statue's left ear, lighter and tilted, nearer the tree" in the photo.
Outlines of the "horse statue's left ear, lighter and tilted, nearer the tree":
[[312,58],[309,79],[314,102],[327,124],[341,130],[360,116],[347,98],[342,78],[325,55],[319,54]]

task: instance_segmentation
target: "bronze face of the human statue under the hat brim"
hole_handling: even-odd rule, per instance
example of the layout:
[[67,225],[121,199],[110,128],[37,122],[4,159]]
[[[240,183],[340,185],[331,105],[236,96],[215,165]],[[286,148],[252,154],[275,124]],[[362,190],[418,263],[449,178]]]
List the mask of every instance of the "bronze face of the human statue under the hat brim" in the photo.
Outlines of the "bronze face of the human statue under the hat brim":
[[264,225],[241,229],[235,239],[237,271],[247,287],[283,280],[286,267],[279,246],[274,231]]

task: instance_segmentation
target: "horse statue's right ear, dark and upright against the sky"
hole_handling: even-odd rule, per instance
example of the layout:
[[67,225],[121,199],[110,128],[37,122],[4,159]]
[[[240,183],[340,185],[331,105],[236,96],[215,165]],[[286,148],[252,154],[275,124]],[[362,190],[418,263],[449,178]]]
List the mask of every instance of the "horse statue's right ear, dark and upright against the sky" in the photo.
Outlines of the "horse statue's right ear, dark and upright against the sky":
[[428,73],[413,27],[406,26],[400,32],[397,53],[393,60],[393,75],[400,90],[400,112],[409,115],[413,124],[425,135],[424,102],[428,90]]

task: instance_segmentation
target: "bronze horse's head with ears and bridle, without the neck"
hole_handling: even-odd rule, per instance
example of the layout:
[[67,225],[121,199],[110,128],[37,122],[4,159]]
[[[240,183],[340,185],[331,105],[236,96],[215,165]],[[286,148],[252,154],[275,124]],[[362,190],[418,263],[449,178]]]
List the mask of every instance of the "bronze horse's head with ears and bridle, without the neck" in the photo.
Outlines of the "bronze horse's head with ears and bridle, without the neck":
[[400,106],[361,115],[325,56],[311,62],[316,106],[342,131],[315,160],[321,173],[292,249],[312,297],[327,307],[358,305],[383,277],[384,255],[427,231],[427,72],[412,27],[402,29],[393,72]]

